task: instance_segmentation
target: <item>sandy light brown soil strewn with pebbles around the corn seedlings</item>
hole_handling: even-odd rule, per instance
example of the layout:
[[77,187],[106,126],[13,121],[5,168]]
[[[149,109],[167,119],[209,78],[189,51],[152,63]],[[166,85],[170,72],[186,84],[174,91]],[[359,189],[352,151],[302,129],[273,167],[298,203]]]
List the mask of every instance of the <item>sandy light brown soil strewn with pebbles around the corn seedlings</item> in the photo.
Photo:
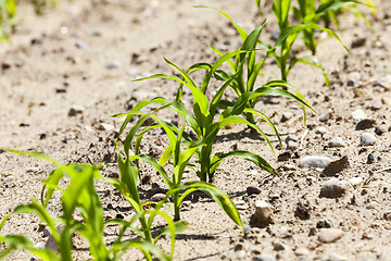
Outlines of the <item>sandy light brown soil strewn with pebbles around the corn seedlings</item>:
[[[169,80],[133,80],[173,73],[163,57],[187,69],[216,60],[210,45],[224,51],[240,47],[240,37],[224,16],[192,4],[225,11],[247,32],[266,16],[261,38],[268,42],[277,30],[270,8],[260,15],[253,0],[64,1],[42,16],[22,5],[13,44],[0,46],[0,147],[42,151],[63,163],[105,161],[102,175],[115,175],[113,141],[123,119],[110,115],[126,112],[143,99],[174,99],[177,88]],[[214,184],[237,203],[247,234],[209,198],[194,199],[182,210],[189,228],[177,235],[174,260],[391,260],[391,2],[376,4],[376,15],[364,11],[374,30],[349,12],[340,16],[339,36],[352,55],[337,40],[319,35],[317,57],[330,87],[325,86],[321,72],[308,65],[298,65],[289,75],[317,114],[307,112],[304,124],[299,103],[283,98],[261,100],[257,109],[273,119],[281,134],[282,149],[273,130],[258,123],[273,141],[275,156],[244,126],[223,129],[215,151],[256,152],[279,175],[270,176],[235,158],[223,162]],[[294,50],[298,55],[308,54],[302,44]],[[258,78],[258,86],[279,75],[272,60],[262,72],[266,76]],[[189,104],[191,97],[185,95],[184,100]],[[74,105],[83,107],[75,115],[70,113]],[[164,116],[175,120],[174,113]],[[362,145],[364,133],[376,141]],[[336,137],[342,138],[342,147],[330,146]],[[168,144],[161,132],[150,133],[146,140],[142,151],[156,157]],[[348,159],[348,163],[337,162],[331,171],[324,171],[303,165],[306,156]],[[39,198],[41,181],[53,167],[33,158],[0,153],[0,219]],[[141,186],[148,200],[164,184],[152,169],[146,166],[142,173],[151,175],[150,183]],[[188,181],[197,178],[192,172],[186,175]],[[330,179],[342,186],[341,192],[321,190]],[[249,195],[250,186],[258,194]],[[97,189],[105,217],[131,216],[129,203],[112,187],[97,183]],[[49,207],[53,213],[60,210],[59,198],[55,195]],[[253,219],[257,200],[269,204],[267,224]],[[10,219],[1,234],[25,234],[45,246],[47,237],[39,224],[36,216],[21,214]],[[110,229],[108,243],[117,233]],[[323,243],[324,233],[342,237]],[[167,244],[168,239],[162,240],[163,248]],[[75,239],[75,259],[91,258],[87,249],[85,241]],[[134,260],[131,254],[123,260]],[[270,259],[263,258],[267,254]],[[21,251],[8,260],[30,258]]]

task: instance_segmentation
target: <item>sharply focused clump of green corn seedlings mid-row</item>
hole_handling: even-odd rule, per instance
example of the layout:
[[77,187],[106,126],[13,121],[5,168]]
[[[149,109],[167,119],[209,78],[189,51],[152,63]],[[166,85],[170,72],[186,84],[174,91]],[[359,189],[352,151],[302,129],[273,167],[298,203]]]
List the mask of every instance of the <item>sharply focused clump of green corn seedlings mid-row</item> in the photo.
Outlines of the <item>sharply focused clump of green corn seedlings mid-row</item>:
[[[272,121],[264,115],[263,113],[248,108],[247,104],[251,99],[257,99],[264,95],[272,96],[286,96],[292,99],[298,100],[303,105],[310,107],[305,100],[302,100],[300,97],[283,90],[278,83],[272,83],[265,85],[263,87],[257,88],[254,91],[245,91],[241,96],[238,97],[237,101],[230,102],[228,108],[226,108],[219,115],[217,115],[217,108],[222,107],[222,104],[227,105],[227,101],[222,100],[223,94],[230,86],[230,83],[234,78],[225,82],[216,91],[215,96],[209,101],[206,96],[206,90],[210,85],[210,80],[212,76],[216,73],[218,67],[226,62],[228,59],[239,54],[244,53],[243,50],[237,50],[227,54],[224,54],[219,58],[213,65],[207,63],[200,63],[190,67],[190,70],[182,71],[176,64],[165,59],[167,64],[174,69],[181,77],[176,75],[167,75],[167,74],[156,74],[152,75],[143,79],[152,79],[152,78],[164,78],[164,79],[173,79],[180,84],[180,88],[186,86],[192,94],[193,98],[193,107],[192,113],[190,114],[185,105],[178,100],[169,101],[166,98],[157,97],[152,99],[151,101],[141,101],[137,104],[130,112],[117,114],[114,116],[126,116],[121,129],[119,135],[124,132],[126,125],[131,121],[131,119],[136,115],[141,116],[137,123],[131,127],[126,138],[124,139],[124,153],[127,159],[134,159],[129,151],[131,150],[131,146],[134,146],[134,153],[138,156],[141,160],[147,161],[155,166],[159,173],[162,174],[164,181],[168,185],[171,189],[175,192],[173,194],[174,199],[174,209],[175,209],[175,219],[179,220],[179,207],[184,196],[179,196],[178,188],[181,187],[193,190],[202,190],[206,194],[210,194],[217,203],[219,203],[223,209],[226,211],[228,216],[236,222],[237,224],[241,224],[239,214],[231,203],[231,200],[228,196],[223,194],[215,186],[207,184],[206,182],[212,182],[214,177],[214,173],[216,169],[219,166],[220,162],[228,157],[240,157],[244,160],[251,161],[260,166],[262,170],[276,174],[276,171],[265,161],[262,157],[252,153],[250,151],[230,151],[227,153],[213,153],[213,144],[217,137],[218,132],[228,124],[244,124],[248,125],[255,130],[257,130],[266,142],[273,149],[273,146],[267,138],[267,136],[263,133],[263,130],[256,126],[255,124],[249,122],[248,120],[241,117],[240,115],[243,113],[252,113],[264,119],[270,127],[276,133],[279,138],[278,132]],[[190,72],[194,70],[198,71],[200,69],[209,69],[209,72],[203,78],[202,86],[198,87],[193,79],[189,76]],[[240,73],[240,72],[239,72]],[[178,91],[178,96],[181,96],[181,90]],[[157,109],[152,111],[151,113],[142,112],[142,109],[153,104],[160,104]],[[172,110],[178,115],[180,115],[184,120],[184,123],[180,127],[175,126],[173,124],[166,123],[161,120],[156,113],[163,109]],[[144,128],[140,129],[144,121],[149,117],[152,117],[156,123]],[[152,129],[152,128],[163,128],[165,134],[169,139],[169,146],[165,149],[159,162],[156,162],[153,158],[140,154],[140,144],[143,135]],[[187,130],[190,127],[191,130]],[[192,133],[194,135],[192,135]],[[118,138],[119,138],[118,135]],[[135,139],[135,141],[133,141]],[[182,147],[185,146],[185,150],[182,151]],[[190,162],[191,158],[195,156],[198,158],[198,164],[193,164]],[[174,171],[172,174],[172,178],[164,171],[162,165],[166,164],[168,160],[173,158]],[[137,159],[138,160],[138,159]],[[138,165],[138,162],[136,163]],[[181,184],[181,179],[184,176],[184,171],[186,167],[192,169],[197,175],[199,176],[201,182],[191,182]],[[185,194],[186,195],[186,194]]]

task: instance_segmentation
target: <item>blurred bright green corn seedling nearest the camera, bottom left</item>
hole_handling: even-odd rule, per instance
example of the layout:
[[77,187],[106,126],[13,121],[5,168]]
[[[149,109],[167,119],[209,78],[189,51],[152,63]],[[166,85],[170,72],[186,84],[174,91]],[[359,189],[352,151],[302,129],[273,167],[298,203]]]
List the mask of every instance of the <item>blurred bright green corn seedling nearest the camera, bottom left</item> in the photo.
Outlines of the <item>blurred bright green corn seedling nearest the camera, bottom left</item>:
[[[172,259],[176,229],[185,228],[185,223],[174,224],[173,220],[166,213],[161,212],[160,208],[162,207],[163,201],[159,202],[152,210],[142,210],[141,203],[139,200],[137,200],[137,190],[134,190],[134,194],[128,191],[128,187],[130,187],[128,183],[134,182],[131,178],[133,176],[137,177],[137,173],[133,176],[130,176],[131,173],[129,172],[127,174],[123,174],[123,181],[127,182],[127,184],[125,184],[123,181],[102,177],[98,167],[93,165],[77,163],[62,165],[42,153],[23,152],[16,150],[9,151],[45,159],[59,166],[52,171],[49,177],[45,181],[45,185],[41,190],[41,203],[39,203],[37,200],[33,200],[31,203],[21,204],[11,215],[26,212],[35,213],[41,220],[41,222],[43,222],[45,225],[49,227],[51,236],[54,238],[60,253],[53,249],[38,248],[23,235],[0,235],[0,241],[8,245],[8,248],[0,253],[0,259],[4,258],[13,250],[25,249],[41,260],[73,260],[72,236],[74,233],[80,234],[89,241],[89,250],[94,260],[118,260],[122,254],[131,248],[141,250],[147,260],[152,260],[151,254],[160,260]],[[62,189],[58,186],[59,182],[63,177],[71,178],[71,182],[65,189]],[[93,184],[94,179],[102,179],[117,188],[121,188],[122,192],[126,192],[124,196],[133,203],[133,207],[136,211],[130,221],[117,219],[104,221],[103,208]],[[60,216],[55,216],[49,213],[46,209],[54,190],[61,190],[63,194],[61,199],[62,215]],[[76,211],[83,216],[81,221],[74,219]],[[157,214],[162,215],[167,221],[168,227],[163,229],[161,234],[153,240],[151,237],[151,224],[152,220]],[[0,231],[5,224],[7,220],[11,217],[11,215],[5,216],[0,223]],[[142,226],[141,229],[135,226],[135,221],[140,221]],[[63,224],[61,229],[58,228],[58,224]],[[122,228],[119,235],[109,248],[103,238],[103,228],[105,225],[112,224],[119,225]],[[139,237],[130,240],[123,240],[124,233],[127,229],[137,233]],[[162,235],[171,235],[172,237],[172,253],[169,256],[155,247],[155,241]]]

